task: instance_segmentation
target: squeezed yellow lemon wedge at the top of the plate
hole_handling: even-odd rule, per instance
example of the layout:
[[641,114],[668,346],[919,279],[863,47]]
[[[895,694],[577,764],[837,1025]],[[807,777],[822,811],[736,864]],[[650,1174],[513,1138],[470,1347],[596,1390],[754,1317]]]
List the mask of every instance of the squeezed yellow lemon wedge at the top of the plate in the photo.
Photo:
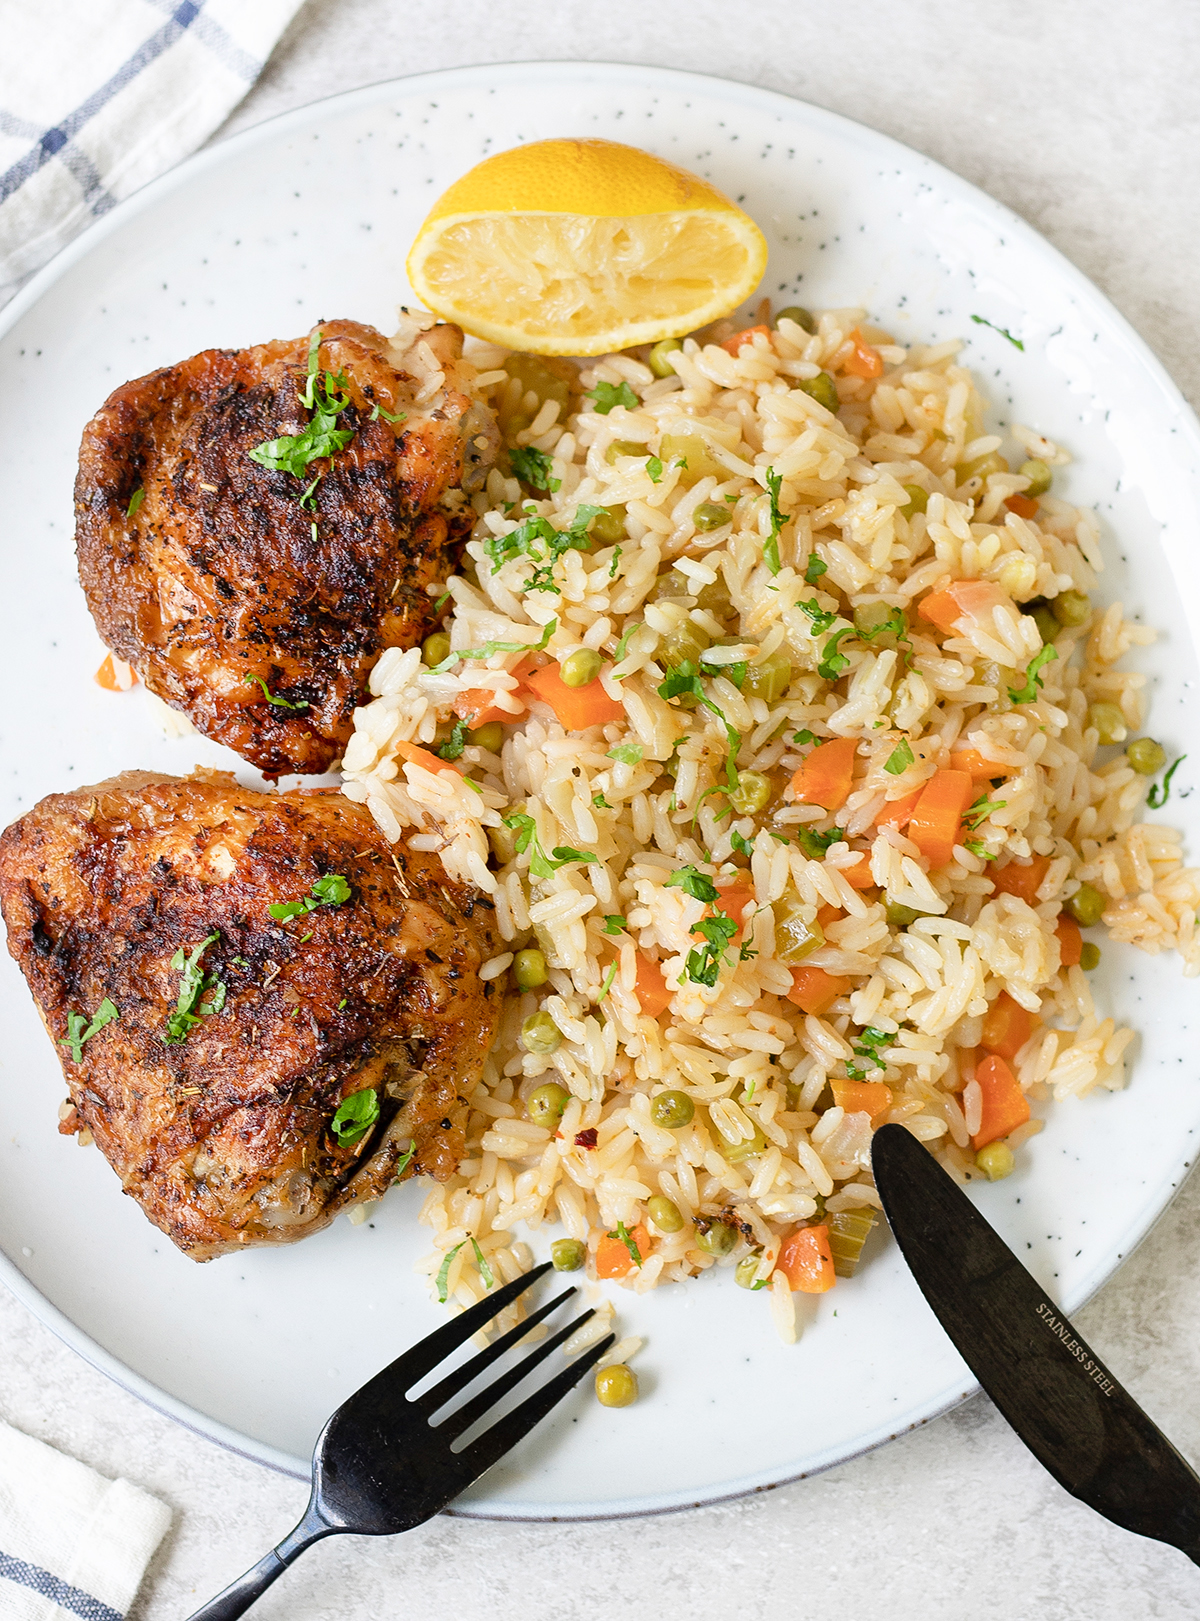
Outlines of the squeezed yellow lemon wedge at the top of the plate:
[[757,287],[754,220],[686,169],[618,141],[534,141],[433,206],[409,280],[436,314],[535,355],[678,337]]

